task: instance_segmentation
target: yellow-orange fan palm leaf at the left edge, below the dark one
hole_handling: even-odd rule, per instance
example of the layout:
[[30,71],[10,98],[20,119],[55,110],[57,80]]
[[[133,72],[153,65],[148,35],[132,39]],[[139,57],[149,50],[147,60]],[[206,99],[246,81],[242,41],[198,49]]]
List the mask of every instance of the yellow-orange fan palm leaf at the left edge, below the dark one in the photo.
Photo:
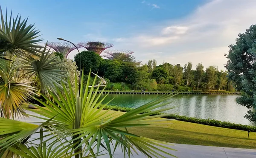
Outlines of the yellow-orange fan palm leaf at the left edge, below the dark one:
[[10,118],[26,116],[21,104],[35,94],[29,80],[21,78],[11,64],[0,69],[0,109],[1,115]]

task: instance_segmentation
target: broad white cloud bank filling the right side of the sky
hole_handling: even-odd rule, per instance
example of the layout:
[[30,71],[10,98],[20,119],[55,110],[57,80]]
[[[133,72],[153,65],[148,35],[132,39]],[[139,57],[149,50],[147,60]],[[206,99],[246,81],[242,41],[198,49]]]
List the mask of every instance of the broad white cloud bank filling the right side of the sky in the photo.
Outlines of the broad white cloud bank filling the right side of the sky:
[[157,23],[148,31],[142,28],[143,33],[126,37],[118,46],[132,49],[143,62],[153,58],[147,54],[161,51],[154,55],[158,64],[163,60],[181,65],[193,62],[195,68],[202,62],[205,67],[224,69],[228,45],[236,42],[238,33],[256,24],[255,8],[255,0],[212,0],[182,19]]

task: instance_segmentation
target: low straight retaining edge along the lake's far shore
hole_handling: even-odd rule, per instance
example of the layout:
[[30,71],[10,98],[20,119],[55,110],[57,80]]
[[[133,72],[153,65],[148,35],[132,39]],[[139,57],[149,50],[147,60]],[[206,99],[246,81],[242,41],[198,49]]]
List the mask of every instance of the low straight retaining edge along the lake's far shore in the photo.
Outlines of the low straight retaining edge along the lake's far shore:
[[[95,93],[95,92],[93,92]],[[98,94],[101,93],[101,91],[99,90],[97,92]],[[205,93],[205,92],[201,92],[201,93],[194,93],[194,92],[156,92],[156,91],[152,91],[152,92],[141,92],[141,91],[105,91],[103,92],[103,94],[183,94],[183,95],[241,95],[241,93],[239,92],[234,92],[234,93],[218,93],[218,92],[214,92],[214,93]]]

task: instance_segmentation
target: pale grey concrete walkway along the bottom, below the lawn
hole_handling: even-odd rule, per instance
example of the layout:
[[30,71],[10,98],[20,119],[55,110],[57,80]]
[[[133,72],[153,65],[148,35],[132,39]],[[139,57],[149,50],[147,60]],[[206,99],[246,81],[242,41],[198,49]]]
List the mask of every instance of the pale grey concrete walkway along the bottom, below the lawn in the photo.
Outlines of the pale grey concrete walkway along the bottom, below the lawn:
[[[178,158],[256,158],[256,150],[253,149],[239,149],[239,148],[228,148],[228,147],[209,147],[200,145],[186,145],[186,144],[174,144],[171,146],[172,149],[177,151],[169,152]],[[106,152],[105,152],[106,153]],[[173,158],[169,155],[162,154],[166,158]],[[124,158],[122,151],[116,151],[113,155],[114,158]],[[100,158],[109,158],[109,155],[102,155]],[[147,158],[147,156],[139,153],[132,158]]]

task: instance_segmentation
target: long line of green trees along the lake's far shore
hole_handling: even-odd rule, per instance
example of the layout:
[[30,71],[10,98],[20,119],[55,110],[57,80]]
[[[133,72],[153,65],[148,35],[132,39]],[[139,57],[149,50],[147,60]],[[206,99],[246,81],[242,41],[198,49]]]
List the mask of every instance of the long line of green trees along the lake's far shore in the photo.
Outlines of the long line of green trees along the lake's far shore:
[[[75,56],[75,61],[79,66],[78,54]],[[81,64],[84,67],[84,75],[88,75],[91,69],[94,73],[98,72],[100,76],[104,76],[109,82],[107,86],[109,90],[140,90],[144,87],[147,90],[160,91],[235,91],[232,81],[227,78],[226,71],[219,71],[215,66],[209,66],[204,71],[201,63],[196,65],[196,70],[192,70],[192,62],[188,62],[184,67],[167,62],[157,66],[156,60],[151,59],[142,65],[131,55],[102,59],[92,51],[82,51]]]

